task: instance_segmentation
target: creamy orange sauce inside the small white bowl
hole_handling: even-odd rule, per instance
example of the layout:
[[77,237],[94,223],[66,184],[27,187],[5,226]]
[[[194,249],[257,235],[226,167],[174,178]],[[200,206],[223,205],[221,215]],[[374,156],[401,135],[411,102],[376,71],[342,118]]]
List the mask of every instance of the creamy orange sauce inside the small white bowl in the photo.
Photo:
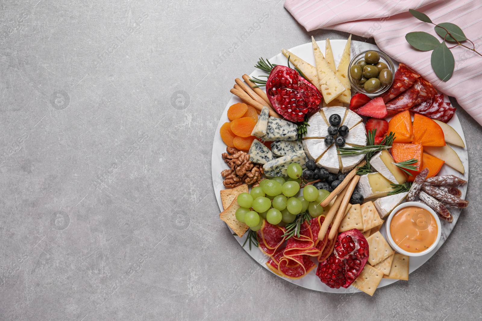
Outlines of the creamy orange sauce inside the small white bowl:
[[433,215],[417,206],[400,209],[390,222],[390,234],[395,244],[411,253],[428,249],[437,239],[437,233]]

